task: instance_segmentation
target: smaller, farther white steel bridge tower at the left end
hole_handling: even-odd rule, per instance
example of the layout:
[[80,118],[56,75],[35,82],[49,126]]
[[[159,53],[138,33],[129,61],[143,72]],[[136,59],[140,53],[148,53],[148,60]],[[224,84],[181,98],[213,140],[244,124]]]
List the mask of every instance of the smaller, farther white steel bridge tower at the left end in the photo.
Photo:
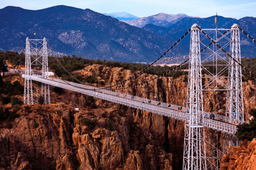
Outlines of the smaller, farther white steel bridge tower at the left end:
[[[35,45],[35,47],[33,46]],[[32,82],[31,75],[34,74],[34,68],[41,69],[41,77],[49,77],[48,72],[48,56],[47,56],[47,40],[29,40],[26,38],[26,59],[25,59],[25,79],[24,79],[24,104],[38,103],[38,98],[44,98],[44,104],[50,104],[49,85]],[[39,74],[38,74],[39,76]],[[34,91],[33,91],[34,90]]]

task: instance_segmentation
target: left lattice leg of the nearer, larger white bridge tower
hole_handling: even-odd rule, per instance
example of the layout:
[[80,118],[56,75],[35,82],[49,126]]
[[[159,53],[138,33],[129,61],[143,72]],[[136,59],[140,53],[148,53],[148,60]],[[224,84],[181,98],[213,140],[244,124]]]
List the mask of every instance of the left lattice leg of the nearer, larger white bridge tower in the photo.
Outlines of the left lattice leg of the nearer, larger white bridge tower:
[[183,170],[206,170],[200,31],[191,28]]

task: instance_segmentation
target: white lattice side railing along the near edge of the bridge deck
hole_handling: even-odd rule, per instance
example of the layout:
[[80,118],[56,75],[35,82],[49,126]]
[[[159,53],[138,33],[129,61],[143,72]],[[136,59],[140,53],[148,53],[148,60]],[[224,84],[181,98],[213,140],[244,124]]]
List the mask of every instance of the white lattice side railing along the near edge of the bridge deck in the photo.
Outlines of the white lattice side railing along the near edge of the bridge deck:
[[[149,103],[145,103],[145,102],[144,103],[140,102],[140,97],[137,97],[135,100],[129,99],[128,97],[117,96],[116,92],[113,92],[113,91],[108,91],[108,92],[110,92],[110,94],[107,94],[106,90],[104,90],[105,92],[104,91],[99,92],[99,91],[86,90],[84,88],[79,88],[79,87],[75,87],[73,85],[67,84],[67,82],[64,82],[64,81],[58,80],[58,79],[57,79],[57,81],[55,81],[55,79],[52,79],[52,78],[46,79],[46,78],[41,78],[38,76],[30,76],[29,78],[31,78],[32,80],[38,81],[38,82],[46,83],[49,85],[57,86],[60,88],[71,90],[71,91],[76,91],[81,94],[86,94],[86,95],[94,96],[94,97],[97,97],[100,99],[105,99],[110,102],[127,105],[127,106],[130,106],[133,108],[141,109],[144,111],[149,111],[152,113],[157,113],[157,114],[160,114],[163,116],[168,116],[168,117],[180,119],[183,121],[186,120],[186,113],[176,111],[176,110],[173,110],[170,108],[165,108],[163,106],[166,106],[166,105],[162,105],[162,102],[161,102],[161,105],[152,105],[152,103],[149,104]],[[68,83],[70,83],[70,82],[68,82]],[[121,94],[119,94],[119,95],[121,95]],[[157,101],[155,101],[155,102],[157,104]],[[236,133],[235,125],[230,125],[230,124],[227,124],[224,122],[219,122],[219,121],[212,120],[212,119],[204,119],[204,125],[206,127],[221,130],[221,131],[224,131],[227,133],[232,133],[232,134]]]

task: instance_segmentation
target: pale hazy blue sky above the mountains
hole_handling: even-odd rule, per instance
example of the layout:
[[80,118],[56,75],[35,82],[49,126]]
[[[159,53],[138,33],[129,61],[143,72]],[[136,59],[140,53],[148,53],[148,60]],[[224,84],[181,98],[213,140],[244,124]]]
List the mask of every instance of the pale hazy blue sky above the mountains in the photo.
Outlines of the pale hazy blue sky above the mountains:
[[90,8],[99,13],[128,12],[147,17],[160,12],[210,17],[218,15],[240,19],[256,17],[256,0],[0,0],[0,8],[19,6],[25,9],[42,9],[66,5]]

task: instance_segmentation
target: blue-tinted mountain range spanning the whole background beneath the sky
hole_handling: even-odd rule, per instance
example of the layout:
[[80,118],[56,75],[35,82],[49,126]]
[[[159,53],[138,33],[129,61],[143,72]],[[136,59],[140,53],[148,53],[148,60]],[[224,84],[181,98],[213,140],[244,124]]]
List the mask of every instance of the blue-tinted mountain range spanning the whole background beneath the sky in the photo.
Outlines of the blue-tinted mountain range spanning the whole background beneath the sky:
[[[168,14],[156,16],[165,15]],[[179,21],[169,27],[154,25],[152,20],[152,23],[139,28],[90,9],[54,6],[33,11],[8,6],[0,9],[0,50],[21,52],[26,37],[34,39],[33,34],[37,33],[38,39],[46,37],[52,50],[63,54],[148,63],[160,57],[194,23],[201,28],[215,28],[215,16],[196,18],[182,14],[180,17],[183,18],[176,19]],[[230,28],[233,23],[256,37],[256,18],[236,20],[218,16],[218,28]],[[189,37],[188,34],[186,41],[167,53],[162,62],[178,63],[185,60],[189,54]],[[254,57],[255,47],[247,37],[241,36],[242,57]]]

